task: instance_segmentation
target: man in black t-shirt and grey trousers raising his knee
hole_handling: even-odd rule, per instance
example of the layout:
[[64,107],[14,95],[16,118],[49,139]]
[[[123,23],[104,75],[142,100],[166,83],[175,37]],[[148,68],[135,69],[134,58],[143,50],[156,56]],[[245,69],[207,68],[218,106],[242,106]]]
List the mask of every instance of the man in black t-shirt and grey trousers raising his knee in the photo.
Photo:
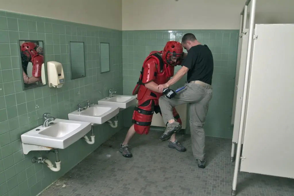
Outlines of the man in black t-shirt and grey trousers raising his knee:
[[[167,123],[166,130],[160,139],[166,140],[173,133],[181,130],[181,125],[173,117],[172,108],[188,103],[193,155],[198,161],[198,167],[205,168],[205,133],[203,125],[208,111],[208,104],[212,98],[213,57],[208,46],[201,45],[192,33],[187,33],[183,36],[182,45],[188,51],[188,54],[184,57],[182,68],[171,80],[158,86],[158,90],[166,95],[159,98],[163,120]],[[176,94],[175,91],[168,88],[186,73],[186,88],[181,93]]]

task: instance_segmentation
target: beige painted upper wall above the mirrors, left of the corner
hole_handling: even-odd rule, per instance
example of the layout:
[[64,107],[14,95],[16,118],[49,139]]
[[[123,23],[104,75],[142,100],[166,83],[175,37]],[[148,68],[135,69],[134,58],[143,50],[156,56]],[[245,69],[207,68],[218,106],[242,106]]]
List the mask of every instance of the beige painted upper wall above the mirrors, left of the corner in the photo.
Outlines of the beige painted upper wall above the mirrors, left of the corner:
[[0,0],[0,9],[122,29],[122,0]]

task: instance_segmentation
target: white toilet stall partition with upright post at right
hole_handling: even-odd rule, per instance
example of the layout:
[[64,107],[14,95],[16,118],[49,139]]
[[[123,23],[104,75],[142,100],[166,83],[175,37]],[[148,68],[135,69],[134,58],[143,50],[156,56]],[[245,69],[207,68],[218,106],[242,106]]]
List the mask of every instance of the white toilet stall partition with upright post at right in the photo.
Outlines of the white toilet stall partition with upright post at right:
[[252,0],[244,86],[238,88],[243,90],[240,120],[235,112],[234,124],[240,125],[232,195],[239,166],[243,172],[294,178],[294,24],[254,25],[255,6]]

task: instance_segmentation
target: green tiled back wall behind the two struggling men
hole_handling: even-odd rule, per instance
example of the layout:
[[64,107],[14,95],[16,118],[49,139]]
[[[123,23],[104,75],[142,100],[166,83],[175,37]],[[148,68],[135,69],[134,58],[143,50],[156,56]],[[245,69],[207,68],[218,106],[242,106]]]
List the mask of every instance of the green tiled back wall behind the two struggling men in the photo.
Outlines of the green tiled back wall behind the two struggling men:
[[[238,30],[166,30],[123,31],[123,93],[130,95],[142,68],[142,63],[152,50],[162,50],[169,40],[181,42],[185,33],[193,33],[213,53],[213,98],[205,124],[208,136],[232,138],[231,113],[238,48]],[[176,71],[180,66],[176,67]],[[181,80],[180,85],[184,84]],[[131,109],[126,110],[124,125],[131,125]],[[189,119],[189,117],[188,117]],[[189,121],[187,121],[189,122]],[[190,132],[187,125],[186,132]]]

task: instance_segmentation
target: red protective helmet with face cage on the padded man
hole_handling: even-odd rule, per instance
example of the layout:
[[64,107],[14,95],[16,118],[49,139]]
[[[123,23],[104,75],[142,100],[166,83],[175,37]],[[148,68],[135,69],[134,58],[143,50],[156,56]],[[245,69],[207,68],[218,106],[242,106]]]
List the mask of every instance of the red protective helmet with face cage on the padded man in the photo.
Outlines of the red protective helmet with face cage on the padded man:
[[180,42],[169,41],[162,52],[162,59],[165,63],[176,66],[182,63],[183,60],[183,46]]

